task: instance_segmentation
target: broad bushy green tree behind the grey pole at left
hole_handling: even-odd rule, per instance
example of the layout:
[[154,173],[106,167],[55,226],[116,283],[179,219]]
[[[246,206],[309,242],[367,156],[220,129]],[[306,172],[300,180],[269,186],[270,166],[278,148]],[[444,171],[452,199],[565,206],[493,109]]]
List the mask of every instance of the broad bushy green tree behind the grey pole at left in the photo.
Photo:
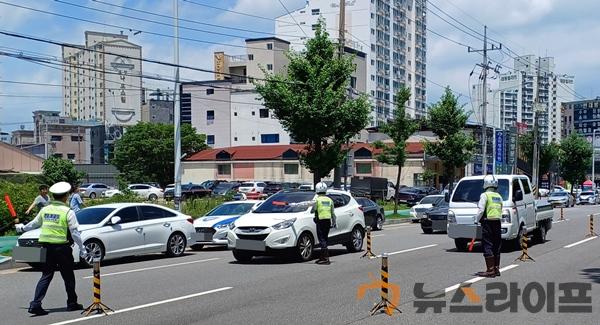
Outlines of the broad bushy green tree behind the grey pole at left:
[[[174,126],[172,124],[138,123],[127,128],[115,143],[111,161],[126,183],[173,182],[175,163]],[[205,135],[196,133],[189,124],[181,125],[181,152],[187,155],[206,149]]]

